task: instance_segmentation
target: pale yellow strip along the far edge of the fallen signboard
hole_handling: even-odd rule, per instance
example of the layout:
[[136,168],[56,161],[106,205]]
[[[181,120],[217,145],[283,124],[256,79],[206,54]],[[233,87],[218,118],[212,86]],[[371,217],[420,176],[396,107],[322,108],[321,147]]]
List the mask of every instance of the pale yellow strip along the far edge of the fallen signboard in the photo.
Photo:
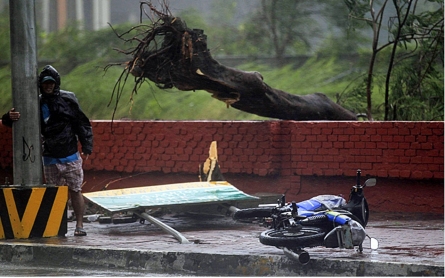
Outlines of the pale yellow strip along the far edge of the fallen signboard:
[[233,186],[226,181],[217,182],[187,182],[187,183],[174,183],[174,184],[164,184],[164,185],[152,185],[152,186],[142,186],[124,189],[112,189],[106,191],[96,191],[84,193],[83,195],[88,198],[94,197],[112,197],[121,195],[130,195],[138,193],[150,193],[150,192],[162,192],[171,190],[182,190],[182,189],[194,189],[194,188],[211,188],[219,186]]

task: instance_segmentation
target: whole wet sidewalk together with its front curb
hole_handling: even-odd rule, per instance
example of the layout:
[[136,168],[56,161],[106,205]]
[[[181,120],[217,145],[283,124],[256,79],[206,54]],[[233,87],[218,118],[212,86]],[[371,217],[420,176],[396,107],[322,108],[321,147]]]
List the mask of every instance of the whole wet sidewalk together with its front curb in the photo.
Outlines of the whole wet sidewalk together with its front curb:
[[367,232],[380,242],[371,251],[308,248],[300,265],[282,250],[259,243],[258,223],[225,216],[170,214],[158,217],[191,244],[180,244],[158,227],[85,223],[86,237],[0,241],[0,260],[45,265],[102,266],[184,276],[444,276],[443,215],[371,214]]

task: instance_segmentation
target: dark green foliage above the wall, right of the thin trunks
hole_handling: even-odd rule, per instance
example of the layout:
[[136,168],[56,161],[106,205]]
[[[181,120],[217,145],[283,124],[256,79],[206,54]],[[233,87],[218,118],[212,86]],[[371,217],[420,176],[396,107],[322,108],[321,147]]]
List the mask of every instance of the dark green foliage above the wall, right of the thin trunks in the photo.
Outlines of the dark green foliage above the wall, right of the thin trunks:
[[388,119],[443,120],[443,3],[421,2],[425,5],[417,11],[409,10],[407,3],[398,7],[407,20],[390,29],[397,38],[401,27],[389,84]]

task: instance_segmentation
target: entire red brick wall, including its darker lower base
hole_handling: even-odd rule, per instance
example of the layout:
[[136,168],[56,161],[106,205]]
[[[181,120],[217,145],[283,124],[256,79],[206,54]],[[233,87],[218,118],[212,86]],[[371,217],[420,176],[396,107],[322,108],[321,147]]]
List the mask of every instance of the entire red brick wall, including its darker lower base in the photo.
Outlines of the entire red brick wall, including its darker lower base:
[[[92,125],[84,192],[112,180],[109,189],[195,181],[217,141],[224,176],[249,194],[346,195],[361,169],[378,178],[366,193],[374,211],[444,209],[443,122],[115,121],[113,133],[109,121]],[[0,169],[11,169],[11,129],[0,132]],[[124,176],[132,178],[118,182]]]

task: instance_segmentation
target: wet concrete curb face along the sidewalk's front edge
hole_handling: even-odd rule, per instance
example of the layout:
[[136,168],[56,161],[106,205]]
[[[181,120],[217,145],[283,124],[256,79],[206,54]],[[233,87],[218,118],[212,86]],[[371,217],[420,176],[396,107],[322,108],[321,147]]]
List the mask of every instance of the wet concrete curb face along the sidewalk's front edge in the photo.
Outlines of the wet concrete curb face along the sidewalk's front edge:
[[281,255],[227,255],[196,252],[56,246],[35,243],[0,244],[0,259],[47,266],[101,266],[150,273],[220,276],[444,276],[443,266],[352,259],[312,259],[300,265]]

